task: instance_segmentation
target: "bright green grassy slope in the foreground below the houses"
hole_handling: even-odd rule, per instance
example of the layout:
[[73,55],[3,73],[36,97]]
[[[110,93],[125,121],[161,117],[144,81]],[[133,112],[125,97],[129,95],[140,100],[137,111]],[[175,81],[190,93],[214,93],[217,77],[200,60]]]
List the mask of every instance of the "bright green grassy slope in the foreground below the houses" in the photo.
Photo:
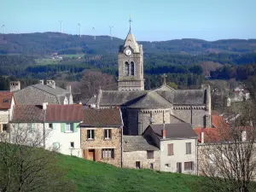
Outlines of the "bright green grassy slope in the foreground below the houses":
[[60,155],[61,166],[79,191],[199,191],[190,189],[201,177],[151,170],[121,169],[107,164]]

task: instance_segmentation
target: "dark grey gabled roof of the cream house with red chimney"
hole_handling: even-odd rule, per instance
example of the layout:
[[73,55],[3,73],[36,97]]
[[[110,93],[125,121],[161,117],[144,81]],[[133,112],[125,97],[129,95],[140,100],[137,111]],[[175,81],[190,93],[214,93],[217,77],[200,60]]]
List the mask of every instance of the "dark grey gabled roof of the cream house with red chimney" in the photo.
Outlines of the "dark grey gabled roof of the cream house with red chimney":
[[[163,125],[148,125],[148,128],[151,127],[154,131],[154,134],[163,139],[162,131]],[[147,129],[148,129],[147,128]],[[185,139],[185,138],[197,138],[195,131],[192,129],[190,124],[180,123],[180,124],[166,124],[166,139]]]

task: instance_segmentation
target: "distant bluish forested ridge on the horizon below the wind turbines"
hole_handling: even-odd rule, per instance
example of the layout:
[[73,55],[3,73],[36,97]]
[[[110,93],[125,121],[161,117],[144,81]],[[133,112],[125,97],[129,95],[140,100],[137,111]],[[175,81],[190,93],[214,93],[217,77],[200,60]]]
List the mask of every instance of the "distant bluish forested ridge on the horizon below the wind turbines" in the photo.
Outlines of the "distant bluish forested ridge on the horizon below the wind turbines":
[[[135,34],[136,36],[136,34]],[[124,37],[125,38],[125,37]],[[50,55],[116,53],[124,39],[109,36],[68,35],[60,32],[35,32],[24,34],[0,34],[0,54]],[[194,38],[173,39],[169,41],[142,41],[145,55],[183,53],[199,55],[202,53],[247,53],[256,51],[256,39],[226,39],[205,41]]]

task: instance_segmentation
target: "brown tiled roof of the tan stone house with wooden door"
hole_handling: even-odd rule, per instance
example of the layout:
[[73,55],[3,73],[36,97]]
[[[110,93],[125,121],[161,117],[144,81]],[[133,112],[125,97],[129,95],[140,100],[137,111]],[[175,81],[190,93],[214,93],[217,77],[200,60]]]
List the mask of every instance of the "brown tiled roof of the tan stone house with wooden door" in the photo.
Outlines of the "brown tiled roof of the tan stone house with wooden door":
[[84,109],[82,126],[122,126],[123,120],[119,108]]

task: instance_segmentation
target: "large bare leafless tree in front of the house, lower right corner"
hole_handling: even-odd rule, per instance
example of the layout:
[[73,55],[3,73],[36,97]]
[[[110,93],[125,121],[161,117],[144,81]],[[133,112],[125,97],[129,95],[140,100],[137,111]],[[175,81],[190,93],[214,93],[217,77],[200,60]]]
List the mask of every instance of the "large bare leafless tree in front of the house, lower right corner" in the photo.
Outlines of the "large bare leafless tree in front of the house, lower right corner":
[[246,115],[230,124],[221,123],[211,133],[204,132],[207,141],[198,148],[198,172],[209,182],[201,184],[207,185],[211,191],[255,191],[255,103],[245,104],[242,111],[230,108],[227,112]]

